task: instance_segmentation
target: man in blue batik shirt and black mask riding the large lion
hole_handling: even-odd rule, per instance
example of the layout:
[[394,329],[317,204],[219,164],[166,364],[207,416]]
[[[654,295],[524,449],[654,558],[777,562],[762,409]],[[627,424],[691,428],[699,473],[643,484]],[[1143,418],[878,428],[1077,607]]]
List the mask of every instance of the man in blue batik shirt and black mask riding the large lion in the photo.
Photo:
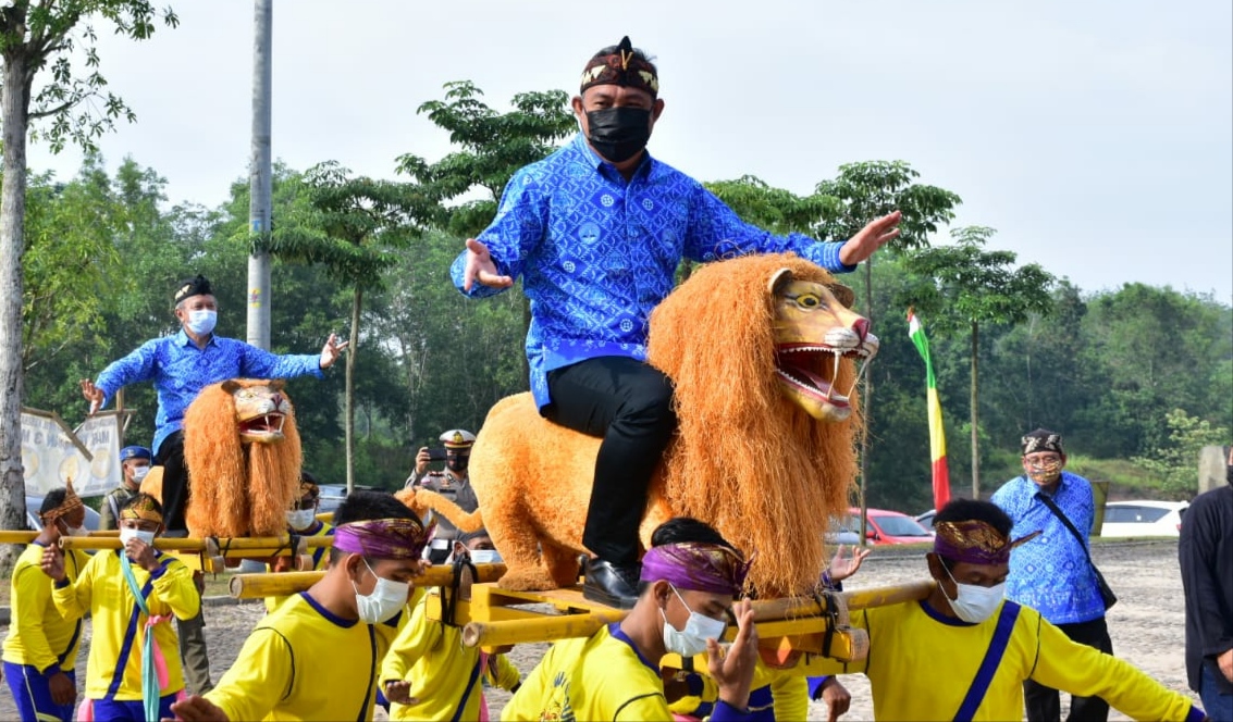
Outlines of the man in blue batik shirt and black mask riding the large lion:
[[655,65],[629,38],[599,51],[573,113],[581,133],[506,186],[492,224],[450,267],[467,296],[523,277],[530,299],[530,387],[540,413],[603,437],[582,541],[587,599],[637,600],[637,526],[676,429],[670,381],[645,363],[647,319],[682,259],[794,251],[830,271],[856,269],[899,234],[899,212],[846,243],[777,237],[742,222],[702,184],[646,153],[663,112]]

